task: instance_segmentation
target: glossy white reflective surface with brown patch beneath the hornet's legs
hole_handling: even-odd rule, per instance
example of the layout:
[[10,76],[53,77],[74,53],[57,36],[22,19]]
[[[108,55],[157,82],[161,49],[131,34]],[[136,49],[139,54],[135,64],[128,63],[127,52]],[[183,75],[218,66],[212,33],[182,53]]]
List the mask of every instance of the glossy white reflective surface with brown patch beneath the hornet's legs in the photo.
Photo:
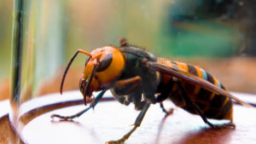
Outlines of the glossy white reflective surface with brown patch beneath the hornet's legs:
[[[77,94],[79,95],[79,92]],[[173,105],[167,102],[166,107]],[[138,114],[133,105],[125,107],[117,101],[104,101],[100,102],[94,111],[86,112],[73,122],[52,121],[50,118],[54,113],[70,115],[84,108],[84,105],[64,107],[33,118],[21,131],[22,140],[32,144],[104,143],[117,140],[131,130],[131,124]],[[152,105],[143,119],[143,124],[125,143],[256,143],[254,107],[234,107],[236,130],[211,130],[200,117],[180,108],[175,108],[171,116],[164,116],[159,105]]]

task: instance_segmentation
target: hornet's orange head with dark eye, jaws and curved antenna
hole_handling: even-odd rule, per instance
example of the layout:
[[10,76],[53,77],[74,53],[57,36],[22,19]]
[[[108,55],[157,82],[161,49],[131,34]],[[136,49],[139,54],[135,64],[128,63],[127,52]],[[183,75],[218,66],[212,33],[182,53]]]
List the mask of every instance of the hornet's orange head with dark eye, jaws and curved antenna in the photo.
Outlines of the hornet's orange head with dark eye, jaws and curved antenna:
[[79,53],[90,56],[85,63],[84,72],[79,82],[80,91],[84,95],[84,104],[86,105],[86,101],[90,100],[94,91],[110,89],[113,80],[118,78],[120,73],[123,72],[125,57],[119,49],[113,46],[98,48],[91,53],[79,49],[69,61],[66,71],[64,72],[61,81],[61,93],[69,66]]

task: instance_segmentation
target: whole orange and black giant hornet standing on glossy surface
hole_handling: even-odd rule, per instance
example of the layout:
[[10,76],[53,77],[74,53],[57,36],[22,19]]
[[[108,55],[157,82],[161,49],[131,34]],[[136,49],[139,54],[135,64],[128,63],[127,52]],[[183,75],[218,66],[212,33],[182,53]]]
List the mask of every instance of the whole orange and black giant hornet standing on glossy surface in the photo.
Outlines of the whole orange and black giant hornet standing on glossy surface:
[[[127,43],[125,38],[119,38],[119,43],[119,47],[105,46],[91,53],[79,49],[73,55],[61,80],[61,93],[67,71],[79,53],[89,55],[79,82],[84,104],[90,100],[93,92],[101,92],[83,111],[67,117],[54,114],[52,118],[72,120],[79,117],[95,107],[106,90],[110,89],[117,101],[125,105],[133,103],[141,111],[132,130],[118,141],[107,142],[124,143],[140,126],[151,104],[159,102],[163,111],[169,113],[162,103],[166,99],[187,112],[200,115],[212,129],[235,129],[231,99],[250,107],[230,95],[223,84],[199,66],[157,58],[148,50]],[[210,123],[208,118],[228,119],[230,122],[217,125]]]

